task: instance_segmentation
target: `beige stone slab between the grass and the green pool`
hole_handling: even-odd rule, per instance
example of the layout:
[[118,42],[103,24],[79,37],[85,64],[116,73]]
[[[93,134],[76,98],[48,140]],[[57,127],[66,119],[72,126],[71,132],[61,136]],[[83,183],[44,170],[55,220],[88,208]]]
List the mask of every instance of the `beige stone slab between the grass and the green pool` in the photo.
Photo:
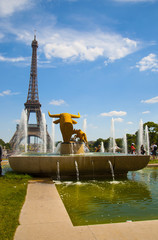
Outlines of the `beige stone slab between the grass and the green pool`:
[[31,182],[20,214],[20,224],[67,222],[72,225],[54,184]]

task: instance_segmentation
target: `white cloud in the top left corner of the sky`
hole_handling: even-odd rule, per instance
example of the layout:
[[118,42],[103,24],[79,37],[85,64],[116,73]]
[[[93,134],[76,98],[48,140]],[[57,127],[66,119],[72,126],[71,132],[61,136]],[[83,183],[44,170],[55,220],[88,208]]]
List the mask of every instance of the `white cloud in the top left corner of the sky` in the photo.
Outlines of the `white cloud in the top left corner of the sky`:
[[0,17],[8,17],[33,5],[32,0],[0,0]]

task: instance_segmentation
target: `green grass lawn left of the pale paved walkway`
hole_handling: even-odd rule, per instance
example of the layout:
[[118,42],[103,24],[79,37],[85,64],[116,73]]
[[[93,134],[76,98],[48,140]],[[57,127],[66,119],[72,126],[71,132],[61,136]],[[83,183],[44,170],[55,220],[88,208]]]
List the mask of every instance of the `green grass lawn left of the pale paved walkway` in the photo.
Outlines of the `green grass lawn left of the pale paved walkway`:
[[0,239],[12,240],[19,225],[19,214],[23,206],[28,180],[26,174],[6,172],[0,177]]

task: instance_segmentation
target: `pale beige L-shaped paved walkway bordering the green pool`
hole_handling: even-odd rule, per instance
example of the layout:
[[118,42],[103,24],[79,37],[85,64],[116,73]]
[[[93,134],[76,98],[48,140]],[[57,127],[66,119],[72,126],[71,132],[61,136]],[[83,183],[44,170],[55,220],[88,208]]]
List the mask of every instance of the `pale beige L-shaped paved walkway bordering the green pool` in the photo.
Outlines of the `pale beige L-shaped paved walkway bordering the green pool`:
[[55,185],[30,181],[14,240],[158,240],[158,220],[74,227]]

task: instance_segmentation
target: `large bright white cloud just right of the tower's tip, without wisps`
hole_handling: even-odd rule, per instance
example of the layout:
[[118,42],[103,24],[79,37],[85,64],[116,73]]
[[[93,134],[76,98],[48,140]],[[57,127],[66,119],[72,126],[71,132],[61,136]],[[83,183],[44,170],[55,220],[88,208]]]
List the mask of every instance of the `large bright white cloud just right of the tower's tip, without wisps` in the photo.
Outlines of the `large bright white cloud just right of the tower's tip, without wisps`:
[[140,47],[139,42],[123,38],[119,34],[101,31],[83,33],[70,29],[58,30],[57,33],[50,34],[48,39],[42,39],[41,43],[47,59],[94,61],[98,57],[104,57],[105,65],[135,52]]

